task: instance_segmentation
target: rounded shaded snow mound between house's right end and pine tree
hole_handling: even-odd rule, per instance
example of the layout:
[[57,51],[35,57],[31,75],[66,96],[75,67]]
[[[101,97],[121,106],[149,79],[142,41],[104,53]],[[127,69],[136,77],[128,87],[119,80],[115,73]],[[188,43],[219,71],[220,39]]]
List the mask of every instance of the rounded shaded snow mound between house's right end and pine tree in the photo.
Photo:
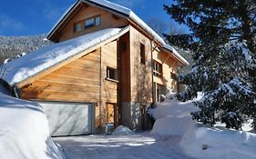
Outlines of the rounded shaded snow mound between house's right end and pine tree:
[[177,100],[168,100],[157,104],[157,108],[152,111],[156,122],[151,134],[159,135],[183,135],[194,126],[191,112],[199,109],[192,102],[181,103]]

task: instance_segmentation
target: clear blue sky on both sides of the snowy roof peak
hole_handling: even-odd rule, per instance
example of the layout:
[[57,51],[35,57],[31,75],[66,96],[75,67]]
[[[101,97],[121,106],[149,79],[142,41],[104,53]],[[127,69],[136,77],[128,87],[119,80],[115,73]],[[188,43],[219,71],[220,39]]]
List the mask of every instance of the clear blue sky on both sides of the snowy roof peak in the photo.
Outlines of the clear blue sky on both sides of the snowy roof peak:
[[[132,9],[142,20],[152,18],[169,23],[164,4],[172,0],[109,0]],[[0,5],[0,35],[48,33],[59,17],[76,0],[5,0]]]

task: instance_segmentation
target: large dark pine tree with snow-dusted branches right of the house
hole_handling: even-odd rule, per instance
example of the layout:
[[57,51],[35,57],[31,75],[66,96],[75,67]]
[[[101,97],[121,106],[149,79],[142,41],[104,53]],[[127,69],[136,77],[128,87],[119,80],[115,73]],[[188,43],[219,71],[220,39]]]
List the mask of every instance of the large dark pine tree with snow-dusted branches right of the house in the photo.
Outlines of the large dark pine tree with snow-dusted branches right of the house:
[[256,1],[174,0],[164,5],[189,35],[165,35],[169,43],[193,52],[195,65],[179,81],[187,84],[180,99],[204,95],[192,114],[204,124],[241,128],[243,119],[256,126]]

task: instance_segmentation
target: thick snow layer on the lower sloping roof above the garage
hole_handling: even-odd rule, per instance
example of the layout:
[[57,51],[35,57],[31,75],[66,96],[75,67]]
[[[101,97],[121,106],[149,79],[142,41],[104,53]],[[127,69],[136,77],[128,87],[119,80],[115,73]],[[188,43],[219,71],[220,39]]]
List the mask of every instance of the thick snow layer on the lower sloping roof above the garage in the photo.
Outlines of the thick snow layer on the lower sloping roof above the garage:
[[3,79],[10,85],[20,83],[68,58],[90,49],[109,38],[127,32],[127,28],[109,28],[47,46],[5,64]]

